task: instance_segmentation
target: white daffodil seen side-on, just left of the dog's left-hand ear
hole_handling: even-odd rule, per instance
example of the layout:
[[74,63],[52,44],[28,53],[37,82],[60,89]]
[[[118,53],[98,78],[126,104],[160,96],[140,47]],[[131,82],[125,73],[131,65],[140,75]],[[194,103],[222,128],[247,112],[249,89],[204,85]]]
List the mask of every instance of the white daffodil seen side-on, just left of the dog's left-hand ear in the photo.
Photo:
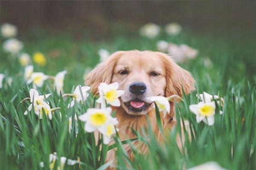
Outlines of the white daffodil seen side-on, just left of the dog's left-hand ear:
[[87,93],[89,89],[90,89],[89,86],[81,86],[81,85],[76,86],[76,89],[73,92],[73,100],[70,104],[68,104],[67,108],[72,108],[75,105],[75,101],[84,102],[89,96],[89,94]]

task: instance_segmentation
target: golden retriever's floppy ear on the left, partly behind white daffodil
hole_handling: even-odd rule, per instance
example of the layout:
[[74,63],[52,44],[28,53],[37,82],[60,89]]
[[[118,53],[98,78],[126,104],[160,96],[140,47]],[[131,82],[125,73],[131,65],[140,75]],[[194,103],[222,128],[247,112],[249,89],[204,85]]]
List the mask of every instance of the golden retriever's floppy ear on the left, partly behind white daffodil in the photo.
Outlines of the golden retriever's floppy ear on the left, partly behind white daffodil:
[[113,53],[105,62],[96,65],[96,67],[86,76],[85,84],[90,86],[90,91],[93,95],[97,94],[98,86],[101,82],[107,84],[111,83],[113,69],[121,55],[122,51]]

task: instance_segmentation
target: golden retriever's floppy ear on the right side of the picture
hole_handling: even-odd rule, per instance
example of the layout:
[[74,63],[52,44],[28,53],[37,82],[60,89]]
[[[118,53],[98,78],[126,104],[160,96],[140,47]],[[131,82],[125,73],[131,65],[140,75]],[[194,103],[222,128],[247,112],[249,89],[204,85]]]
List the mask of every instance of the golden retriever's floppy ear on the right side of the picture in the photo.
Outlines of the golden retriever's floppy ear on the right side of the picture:
[[166,96],[177,94],[182,96],[195,90],[195,80],[192,75],[177,65],[169,56],[158,52],[166,67]]

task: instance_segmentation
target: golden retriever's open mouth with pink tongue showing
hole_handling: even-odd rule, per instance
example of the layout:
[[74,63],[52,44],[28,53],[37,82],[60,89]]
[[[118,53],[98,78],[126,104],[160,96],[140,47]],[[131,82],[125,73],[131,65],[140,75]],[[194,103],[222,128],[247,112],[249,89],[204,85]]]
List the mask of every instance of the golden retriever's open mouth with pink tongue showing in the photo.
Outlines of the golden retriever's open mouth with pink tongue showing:
[[129,111],[141,112],[145,111],[152,103],[144,102],[140,99],[133,99],[124,103]]

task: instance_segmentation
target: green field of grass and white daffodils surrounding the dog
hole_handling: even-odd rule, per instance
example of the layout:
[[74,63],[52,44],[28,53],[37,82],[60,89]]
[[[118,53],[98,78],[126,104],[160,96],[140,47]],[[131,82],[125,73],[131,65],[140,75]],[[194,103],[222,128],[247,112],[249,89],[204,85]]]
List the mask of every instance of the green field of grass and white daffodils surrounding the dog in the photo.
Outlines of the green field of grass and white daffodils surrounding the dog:
[[[192,33],[177,23],[149,23],[137,32],[118,31],[104,41],[40,29],[20,35],[17,27],[2,24],[0,169],[104,170],[112,165],[130,170],[255,170],[253,41],[246,34]],[[109,108],[120,103],[106,97],[110,89],[122,95],[118,84],[102,83],[99,96],[84,85],[84,77],[96,64],[115,51],[132,49],[170,54],[196,81],[196,90],[176,103],[177,126],[163,144],[150,128],[147,133],[134,131],[135,139],[120,141],[118,120]],[[168,105],[158,105],[168,99],[152,98],[159,111],[168,111]],[[94,138],[95,130],[99,139]],[[179,150],[176,136],[182,131],[184,144]],[[108,145],[111,136],[115,144]],[[134,140],[148,146],[147,155],[134,147]],[[122,144],[131,146],[133,160]],[[105,161],[113,148],[116,165]]]

